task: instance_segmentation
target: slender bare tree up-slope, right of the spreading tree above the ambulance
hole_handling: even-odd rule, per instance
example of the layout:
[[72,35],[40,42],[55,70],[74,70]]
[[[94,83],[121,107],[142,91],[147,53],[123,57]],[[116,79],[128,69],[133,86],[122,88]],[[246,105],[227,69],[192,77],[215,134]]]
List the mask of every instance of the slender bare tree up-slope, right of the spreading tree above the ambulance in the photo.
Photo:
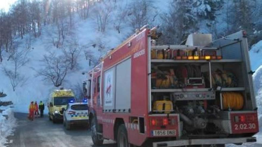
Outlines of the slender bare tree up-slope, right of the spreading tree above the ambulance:
[[79,69],[78,58],[83,47],[79,45],[78,40],[73,40],[69,45],[62,47],[62,52],[66,57],[66,61],[70,64],[70,70]]

